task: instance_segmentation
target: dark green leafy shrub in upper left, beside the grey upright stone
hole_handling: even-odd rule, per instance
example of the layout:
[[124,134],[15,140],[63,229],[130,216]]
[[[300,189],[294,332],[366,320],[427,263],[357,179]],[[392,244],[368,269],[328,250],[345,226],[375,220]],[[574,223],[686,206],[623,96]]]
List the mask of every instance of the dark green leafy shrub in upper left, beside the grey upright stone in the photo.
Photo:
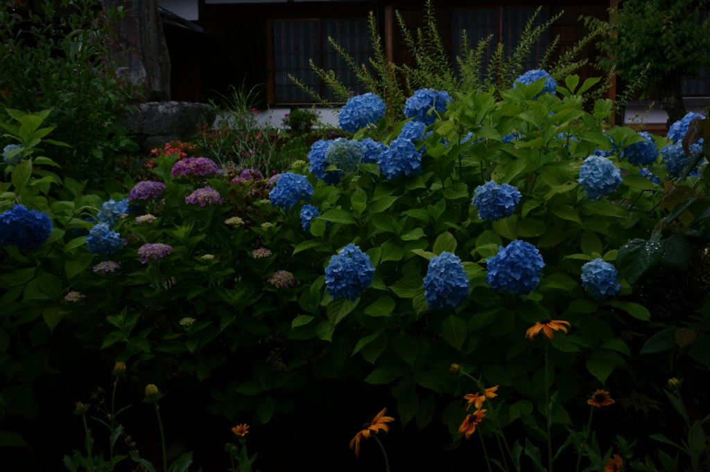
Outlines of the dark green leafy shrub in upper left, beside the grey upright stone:
[[65,174],[104,175],[118,154],[138,148],[117,118],[127,110],[126,98],[138,93],[115,72],[111,24],[124,11],[102,11],[93,0],[45,0],[21,19],[10,6],[0,6],[0,103],[26,112],[50,109],[53,136],[71,144],[53,152]]

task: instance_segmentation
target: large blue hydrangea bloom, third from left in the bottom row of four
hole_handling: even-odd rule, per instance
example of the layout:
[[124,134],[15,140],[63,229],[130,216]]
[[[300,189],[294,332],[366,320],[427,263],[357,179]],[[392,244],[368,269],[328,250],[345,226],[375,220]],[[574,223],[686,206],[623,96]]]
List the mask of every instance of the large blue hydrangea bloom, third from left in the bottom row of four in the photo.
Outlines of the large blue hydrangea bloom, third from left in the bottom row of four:
[[498,254],[488,257],[486,281],[496,292],[527,295],[540,283],[545,262],[537,247],[529,242],[514,240],[506,247],[499,246]]

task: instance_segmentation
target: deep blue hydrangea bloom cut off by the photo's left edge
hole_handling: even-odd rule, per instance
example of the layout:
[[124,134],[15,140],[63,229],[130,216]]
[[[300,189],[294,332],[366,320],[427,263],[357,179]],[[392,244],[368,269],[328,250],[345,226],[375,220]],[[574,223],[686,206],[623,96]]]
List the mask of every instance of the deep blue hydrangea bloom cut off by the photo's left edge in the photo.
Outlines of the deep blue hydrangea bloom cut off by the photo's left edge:
[[39,210],[15,205],[0,213],[0,246],[15,245],[34,251],[52,234],[52,218]]

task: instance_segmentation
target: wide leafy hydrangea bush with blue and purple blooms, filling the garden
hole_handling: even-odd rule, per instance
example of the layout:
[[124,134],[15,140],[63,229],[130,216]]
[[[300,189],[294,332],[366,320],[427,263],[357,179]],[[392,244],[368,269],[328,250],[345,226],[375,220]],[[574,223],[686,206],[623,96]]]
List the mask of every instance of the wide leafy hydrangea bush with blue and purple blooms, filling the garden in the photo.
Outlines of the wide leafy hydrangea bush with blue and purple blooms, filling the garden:
[[[323,382],[352,381],[392,395],[404,424],[442,421],[457,438],[456,397],[471,384],[452,376],[454,362],[500,386],[503,427],[544,437],[549,359],[552,434],[566,439],[570,417],[586,421],[580,392],[623,389],[626,369],[648,363],[623,333],[648,340],[661,326],[690,325],[648,300],[665,290],[655,277],[698,276],[708,242],[708,205],[684,202],[706,192],[704,179],[679,182],[657,160],[645,172],[659,184],[639,174],[621,153],[643,138],[610,125],[611,101],[583,106],[594,83],[567,77],[539,96],[542,81],[519,81],[500,97],[423,89],[405,108],[423,135],[405,123],[359,128],[352,139],[316,142],[302,156],[309,172],[301,163],[270,179],[172,155],[156,160],[162,185],[84,196],[80,183],[30,169],[41,160],[28,154],[9,172],[0,218],[16,198],[55,229],[33,254],[1,249],[3,301],[13,316],[76,331],[111,365],[164,373],[176,386],[208,382],[208,411],[229,420],[315,408]],[[427,107],[435,112],[420,114]],[[560,133],[577,139],[561,143]],[[118,214],[102,203],[126,198],[129,218],[97,218]],[[37,282],[23,287],[40,264]],[[84,297],[65,303],[72,291]],[[688,296],[674,300],[694,316],[706,311],[697,308],[706,294]],[[195,320],[189,330],[185,318]],[[550,320],[570,328],[526,339]],[[653,375],[665,376],[660,345],[643,349],[662,364]],[[707,368],[695,345],[679,361]]]

